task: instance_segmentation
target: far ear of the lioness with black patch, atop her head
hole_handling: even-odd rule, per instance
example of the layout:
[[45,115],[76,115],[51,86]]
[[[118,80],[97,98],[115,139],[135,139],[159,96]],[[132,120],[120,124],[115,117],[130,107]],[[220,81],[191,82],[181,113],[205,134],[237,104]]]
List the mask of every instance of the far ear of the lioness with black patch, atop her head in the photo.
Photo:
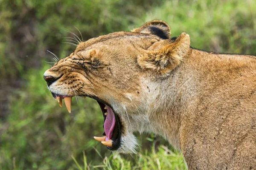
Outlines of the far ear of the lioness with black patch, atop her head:
[[154,34],[162,39],[169,39],[171,36],[171,28],[166,22],[160,20],[150,21],[139,28],[134,28],[131,31],[145,34]]

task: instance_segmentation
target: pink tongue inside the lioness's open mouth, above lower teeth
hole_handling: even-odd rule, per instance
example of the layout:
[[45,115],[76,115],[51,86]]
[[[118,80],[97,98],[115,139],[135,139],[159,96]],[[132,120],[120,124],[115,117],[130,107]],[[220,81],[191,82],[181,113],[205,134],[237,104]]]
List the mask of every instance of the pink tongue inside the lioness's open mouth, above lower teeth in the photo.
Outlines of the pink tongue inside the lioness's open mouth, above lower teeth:
[[108,141],[109,139],[111,139],[113,130],[115,127],[115,123],[116,123],[116,118],[115,118],[115,115],[114,115],[112,109],[108,106],[107,106],[107,109],[108,109],[108,115],[107,115],[105,123],[104,123],[104,130],[105,130],[105,133],[107,136],[105,141]]

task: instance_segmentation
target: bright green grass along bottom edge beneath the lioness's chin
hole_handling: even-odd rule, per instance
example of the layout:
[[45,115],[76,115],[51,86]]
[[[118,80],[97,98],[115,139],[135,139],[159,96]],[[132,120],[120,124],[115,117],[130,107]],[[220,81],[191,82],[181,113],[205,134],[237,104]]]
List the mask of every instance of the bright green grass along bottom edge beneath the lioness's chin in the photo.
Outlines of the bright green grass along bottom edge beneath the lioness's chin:
[[86,169],[104,169],[104,170],[184,170],[186,165],[181,153],[173,152],[168,147],[160,145],[151,150],[141,151],[134,155],[132,159],[124,159],[122,155],[113,153],[111,156],[102,158],[102,163],[99,165],[92,165],[87,163],[87,157],[83,152],[83,163],[79,164],[74,158],[76,168],[79,170]]

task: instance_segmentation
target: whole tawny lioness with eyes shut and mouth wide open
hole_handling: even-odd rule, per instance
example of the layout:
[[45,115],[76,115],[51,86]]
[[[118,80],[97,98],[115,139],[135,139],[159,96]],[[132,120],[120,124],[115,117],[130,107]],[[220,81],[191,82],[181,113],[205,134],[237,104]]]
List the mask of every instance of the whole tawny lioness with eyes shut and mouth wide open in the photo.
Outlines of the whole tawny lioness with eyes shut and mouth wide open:
[[189,169],[256,168],[256,58],[190,47],[154,20],[80,42],[45,71],[52,96],[97,100],[109,150],[134,153],[134,131],[163,136]]

